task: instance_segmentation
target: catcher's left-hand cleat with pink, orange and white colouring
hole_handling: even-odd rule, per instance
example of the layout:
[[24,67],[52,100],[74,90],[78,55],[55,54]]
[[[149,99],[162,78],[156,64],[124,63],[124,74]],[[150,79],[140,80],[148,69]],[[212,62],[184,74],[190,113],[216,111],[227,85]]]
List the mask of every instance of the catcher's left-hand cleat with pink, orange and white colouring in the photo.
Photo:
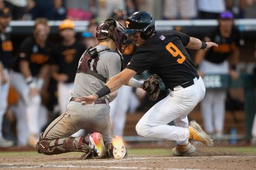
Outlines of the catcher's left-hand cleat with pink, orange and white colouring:
[[104,157],[107,149],[103,143],[102,135],[99,132],[94,132],[93,134],[88,134],[87,138],[90,141],[89,146],[97,153],[97,156]]

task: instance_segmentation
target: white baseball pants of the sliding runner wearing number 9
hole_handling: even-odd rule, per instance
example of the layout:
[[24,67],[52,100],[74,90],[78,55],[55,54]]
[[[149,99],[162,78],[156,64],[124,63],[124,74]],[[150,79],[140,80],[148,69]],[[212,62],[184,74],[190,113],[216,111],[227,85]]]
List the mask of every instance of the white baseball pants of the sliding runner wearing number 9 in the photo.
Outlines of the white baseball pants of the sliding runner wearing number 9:
[[[202,78],[195,78],[194,85],[187,88],[177,86],[170,94],[156,103],[143,115],[136,131],[140,136],[177,141],[186,145],[189,138],[187,115],[195,108],[205,94]],[[175,125],[168,125],[170,122]]]

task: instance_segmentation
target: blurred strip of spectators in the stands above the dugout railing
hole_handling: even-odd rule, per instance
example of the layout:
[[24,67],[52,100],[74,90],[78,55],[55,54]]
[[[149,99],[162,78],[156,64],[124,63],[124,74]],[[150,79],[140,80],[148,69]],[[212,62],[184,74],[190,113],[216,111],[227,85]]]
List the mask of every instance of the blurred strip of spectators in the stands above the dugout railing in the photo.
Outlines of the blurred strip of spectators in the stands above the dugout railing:
[[157,20],[214,19],[230,10],[236,18],[255,18],[255,0],[1,0],[0,9],[12,10],[13,20],[105,20],[114,9],[145,10]]

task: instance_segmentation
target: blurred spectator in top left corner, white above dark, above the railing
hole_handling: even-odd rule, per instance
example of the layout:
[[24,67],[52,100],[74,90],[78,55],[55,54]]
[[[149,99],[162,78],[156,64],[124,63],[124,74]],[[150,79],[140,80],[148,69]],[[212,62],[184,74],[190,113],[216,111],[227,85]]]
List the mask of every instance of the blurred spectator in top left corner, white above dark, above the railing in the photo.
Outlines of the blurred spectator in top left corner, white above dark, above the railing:
[[0,3],[0,6],[9,8],[12,11],[12,20],[22,20],[28,0],[2,0]]

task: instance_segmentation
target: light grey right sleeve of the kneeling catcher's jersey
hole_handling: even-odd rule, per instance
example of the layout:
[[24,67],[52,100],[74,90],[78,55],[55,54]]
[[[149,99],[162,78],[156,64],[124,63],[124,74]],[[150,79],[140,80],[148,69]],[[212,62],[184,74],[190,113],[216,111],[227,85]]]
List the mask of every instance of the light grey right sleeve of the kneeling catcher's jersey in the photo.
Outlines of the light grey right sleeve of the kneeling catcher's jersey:
[[122,64],[119,55],[117,53],[113,53],[107,64],[108,79],[120,73],[121,67]]

